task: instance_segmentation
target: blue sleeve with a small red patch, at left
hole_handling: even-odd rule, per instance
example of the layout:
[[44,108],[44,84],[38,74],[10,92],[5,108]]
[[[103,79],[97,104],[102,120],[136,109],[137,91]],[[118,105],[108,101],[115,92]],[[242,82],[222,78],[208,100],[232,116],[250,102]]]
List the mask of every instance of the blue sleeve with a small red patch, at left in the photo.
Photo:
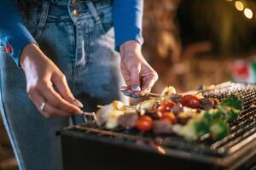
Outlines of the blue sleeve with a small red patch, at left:
[[14,0],[0,1],[0,41],[10,57],[20,66],[20,54],[29,43],[36,43],[30,32],[26,29],[24,20],[16,7]]

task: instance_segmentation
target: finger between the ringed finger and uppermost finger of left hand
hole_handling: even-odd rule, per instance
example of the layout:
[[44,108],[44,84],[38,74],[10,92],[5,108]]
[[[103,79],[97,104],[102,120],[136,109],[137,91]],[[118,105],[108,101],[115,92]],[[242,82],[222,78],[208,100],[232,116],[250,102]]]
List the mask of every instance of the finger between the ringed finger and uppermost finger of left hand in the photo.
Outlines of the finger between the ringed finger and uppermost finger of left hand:
[[70,104],[67,100],[62,99],[61,95],[55,92],[55,89],[48,83],[42,83],[38,88],[38,92],[39,94],[42,94],[44,99],[46,99],[50,105],[53,105],[56,108],[78,115],[83,113],[78,106]]

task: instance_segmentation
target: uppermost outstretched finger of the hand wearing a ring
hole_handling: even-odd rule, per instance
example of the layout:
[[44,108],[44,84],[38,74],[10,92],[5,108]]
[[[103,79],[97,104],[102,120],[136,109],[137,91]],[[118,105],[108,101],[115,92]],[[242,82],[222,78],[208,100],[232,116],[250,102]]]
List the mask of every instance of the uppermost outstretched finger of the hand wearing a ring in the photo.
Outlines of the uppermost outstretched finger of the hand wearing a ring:
[[83,108],[83,104],[73,97],[70,88],[68,88],[67,79],[63,74],[55,74],[52,77],[52,82],[55,84],[55,88],[61,94],[63,99],[66,99],[69,103],[77,105],[79,108]]

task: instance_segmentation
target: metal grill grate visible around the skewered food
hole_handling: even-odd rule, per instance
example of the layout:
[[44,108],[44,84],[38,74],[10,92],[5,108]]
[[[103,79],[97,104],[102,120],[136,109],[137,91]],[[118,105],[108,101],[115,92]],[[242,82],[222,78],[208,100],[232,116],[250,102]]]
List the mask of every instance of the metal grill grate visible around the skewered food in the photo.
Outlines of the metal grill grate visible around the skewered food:
[[97,127],[94,123],[85,123],[77,128],[83,133],[93,133],[100,136],[107,136],[122,142],[137,143],[143,141],[148,144],[160,144],[166,150],[183,150],[196,155],[223,157],[231,155],[240,150],[243,146],[256,139],[256,86],[244,83],[226,82],[219,84],[210,91],[203,92],[206,97],[223,99],[227,95],[236,94],[243,101],[243,111],[240,118],[230,124],[230,135],[224,139],[214,141],[210,134],[201,137],[195,143],[189,143],[172,135],[155,135],[154,133],[142,133],[136,129],[125,129],[117,127],[111,131],[104,127]]

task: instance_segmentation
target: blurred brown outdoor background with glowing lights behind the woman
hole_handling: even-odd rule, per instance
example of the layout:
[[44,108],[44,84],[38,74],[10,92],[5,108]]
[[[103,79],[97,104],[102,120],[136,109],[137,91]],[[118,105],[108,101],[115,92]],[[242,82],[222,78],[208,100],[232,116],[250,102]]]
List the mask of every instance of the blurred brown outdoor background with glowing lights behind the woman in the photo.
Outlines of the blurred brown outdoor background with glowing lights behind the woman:
[[[143,54],[159,73],[153,91],[256,82],[256,2],[145,0]],[[0,122],[0,169],[17,169]]]

